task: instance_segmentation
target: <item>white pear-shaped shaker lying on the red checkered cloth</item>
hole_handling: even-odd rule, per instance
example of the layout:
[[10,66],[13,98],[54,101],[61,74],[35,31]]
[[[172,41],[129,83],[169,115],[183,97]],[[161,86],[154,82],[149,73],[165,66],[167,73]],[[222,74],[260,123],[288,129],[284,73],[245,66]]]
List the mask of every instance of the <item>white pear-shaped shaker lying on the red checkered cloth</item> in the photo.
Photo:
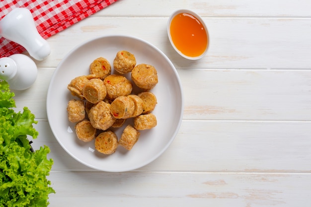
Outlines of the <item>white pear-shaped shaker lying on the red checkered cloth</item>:
[[0,20],[0,35],[23,46],[38,61],[51,53],[48,42],[40,36],[27,8],[14,8],[6,14]]

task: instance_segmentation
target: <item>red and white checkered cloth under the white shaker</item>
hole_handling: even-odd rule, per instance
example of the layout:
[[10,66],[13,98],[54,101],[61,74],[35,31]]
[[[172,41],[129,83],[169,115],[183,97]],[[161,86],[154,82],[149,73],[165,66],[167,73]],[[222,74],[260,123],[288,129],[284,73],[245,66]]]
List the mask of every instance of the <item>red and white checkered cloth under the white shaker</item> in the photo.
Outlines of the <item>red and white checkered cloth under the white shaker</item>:
[[[117,0],[0,0],[0,19],[16,7],[26,7],[32,13],[39,34],[48,37],[68,28],[85,17]],[[25,49],[0,37],[0,58]]]

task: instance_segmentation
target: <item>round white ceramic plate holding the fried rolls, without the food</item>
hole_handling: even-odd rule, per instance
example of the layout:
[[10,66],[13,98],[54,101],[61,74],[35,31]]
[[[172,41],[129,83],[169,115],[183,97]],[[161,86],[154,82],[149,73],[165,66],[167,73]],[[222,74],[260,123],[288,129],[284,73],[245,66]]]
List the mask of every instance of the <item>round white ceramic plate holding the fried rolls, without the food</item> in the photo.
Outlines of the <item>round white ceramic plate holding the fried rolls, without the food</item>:
[[[106,58],[115,73],[113,60],[120,50],[133,53],[137,64],[150,64],[157,69],[158,83],[151,90],[157,97],[153,111],[157,126],[141,131],[132,150],[119,146],[115,153],[104,155],[96,151],[94,140],[82,142],[76,137],[75,124],[68,121],[66,108],[68,101],[77,97],[71,95],[67,85],[76,76],[88,74],[90,63],[98,57]],[[130,74],[127,77],[130,79]],[[154,161],[178,133],[183,116],[181,83],[170,60],[150,43],[129,36],[98,37],[73,49],[55,70],[47,93],[47,115],[55,138],[79,162],[102,171],[130,171]],[[131,124],[131,120],[128,122]],[[119,138],[123,129],[115,131]]]

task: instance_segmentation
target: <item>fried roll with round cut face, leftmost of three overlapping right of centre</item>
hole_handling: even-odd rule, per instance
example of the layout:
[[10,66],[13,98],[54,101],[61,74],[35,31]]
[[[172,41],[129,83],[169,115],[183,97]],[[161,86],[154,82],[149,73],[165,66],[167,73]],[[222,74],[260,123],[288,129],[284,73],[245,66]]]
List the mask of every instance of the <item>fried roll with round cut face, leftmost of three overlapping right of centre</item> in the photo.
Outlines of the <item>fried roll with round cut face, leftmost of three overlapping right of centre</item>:
[[119,96],[111,103],[110,112],[116,119],[130,118],[134,112],[134,101],[127,96]]

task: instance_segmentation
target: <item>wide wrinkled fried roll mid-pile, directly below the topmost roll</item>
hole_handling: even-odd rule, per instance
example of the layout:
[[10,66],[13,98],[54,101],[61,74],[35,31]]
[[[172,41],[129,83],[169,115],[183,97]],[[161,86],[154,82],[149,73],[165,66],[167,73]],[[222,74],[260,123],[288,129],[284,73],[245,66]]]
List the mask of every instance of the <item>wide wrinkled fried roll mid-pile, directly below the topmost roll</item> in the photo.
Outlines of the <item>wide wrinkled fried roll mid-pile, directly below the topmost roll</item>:
[[112,100],[118,96],[127,96],[133,90],[131,81],[122,75],[108,75],[104,79],[104,84],[107,90],[107,97]]

